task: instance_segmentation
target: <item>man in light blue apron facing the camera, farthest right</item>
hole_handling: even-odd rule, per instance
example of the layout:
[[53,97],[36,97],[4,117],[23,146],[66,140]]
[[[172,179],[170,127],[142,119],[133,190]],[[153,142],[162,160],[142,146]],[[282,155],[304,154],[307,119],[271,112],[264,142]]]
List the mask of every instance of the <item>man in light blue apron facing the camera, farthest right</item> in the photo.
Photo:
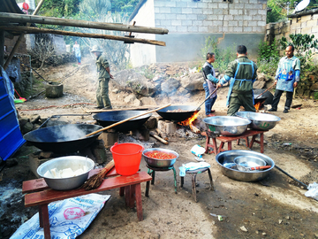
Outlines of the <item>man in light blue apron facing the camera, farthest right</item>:
[[294,88],[297,88],[300,75],[300,60],[293,55],[294,47],[288,46],[285,49],[286,57],[281,58],[276,70],[275,94],[273,98],[272,108],[269,112],[276,112],[277,105],[283,92],[286,91],[286,102],[284,105],[284,113],[287,113],[292,105],[292,93]]

